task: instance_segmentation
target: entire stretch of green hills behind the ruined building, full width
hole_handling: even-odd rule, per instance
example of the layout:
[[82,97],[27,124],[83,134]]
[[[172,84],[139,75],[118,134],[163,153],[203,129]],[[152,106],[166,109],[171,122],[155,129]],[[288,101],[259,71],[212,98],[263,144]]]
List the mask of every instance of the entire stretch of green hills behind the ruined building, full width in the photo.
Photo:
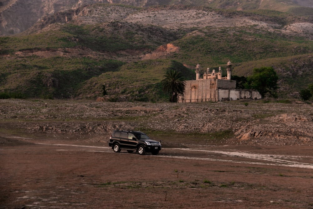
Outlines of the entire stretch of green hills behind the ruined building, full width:
[[[97,4],[99,7],[114,7],[115,12],[119,8]],[[139,12],[152,9],[162,15],[163,9],[177,7],[132,9],[134,18]],[[195,27],[190,22],[187,26],[177,23],[165,27],[144,24],[141,18],[152,17],[138,16],[138,22],[126,18],[80,25],[56,23],[31,34],[0,37],[0,92],[22,97],[94,99],[102,96],[105,86],[111,101],[166,101],[160,81],[168,69],[181,71],[186,80],[192,80],[197,63],[203,71],[221,66],[225,72],[228,60],[233,63],[233,75],[238,76],[249,75],[254,67],[274,67],[280,79],[280,97],[297,97],[297,92],[312,82],[313,34],[305,32],[313,23],[310,17],[271,10],[243,12],[185,6],[179,7],[182,14],[176,18],[186,18],[183,11],[191,9],[198,10],[199,16],[201,11],[212,12],[221,15],[223,21],[237,19],[241,24]],[[157,18],[162,20],[162,16]],[[264,25],[247,25],[245,21]],[[284,30],[286,25],[303,22],[307,26],[299,32],[302,34]],[[179,50],[142,60],[168,43]]]

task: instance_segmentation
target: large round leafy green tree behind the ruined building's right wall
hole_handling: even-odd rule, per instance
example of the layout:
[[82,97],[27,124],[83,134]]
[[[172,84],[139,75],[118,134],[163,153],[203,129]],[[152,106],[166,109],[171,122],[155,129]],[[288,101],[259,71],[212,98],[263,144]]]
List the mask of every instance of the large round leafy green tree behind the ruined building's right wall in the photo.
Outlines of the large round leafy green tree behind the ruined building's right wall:
[[253,75],[247,77],[247,83],[244,84],[247,89],[258,90],[262,97],[269,93],[272,97],[277,97],[276,90],[278,76],[272,67],[254,68]]

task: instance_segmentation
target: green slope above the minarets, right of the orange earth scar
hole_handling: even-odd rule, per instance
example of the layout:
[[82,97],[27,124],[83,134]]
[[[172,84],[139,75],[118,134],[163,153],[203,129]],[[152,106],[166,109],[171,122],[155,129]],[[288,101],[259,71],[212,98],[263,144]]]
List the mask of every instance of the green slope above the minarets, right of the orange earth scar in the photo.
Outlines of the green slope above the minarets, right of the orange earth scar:
[[313,52],[313,41],[271,33],[254,27],[204,28],[199,35],[174,41],[180,52],[170,56],[188,65],[225,65]]

